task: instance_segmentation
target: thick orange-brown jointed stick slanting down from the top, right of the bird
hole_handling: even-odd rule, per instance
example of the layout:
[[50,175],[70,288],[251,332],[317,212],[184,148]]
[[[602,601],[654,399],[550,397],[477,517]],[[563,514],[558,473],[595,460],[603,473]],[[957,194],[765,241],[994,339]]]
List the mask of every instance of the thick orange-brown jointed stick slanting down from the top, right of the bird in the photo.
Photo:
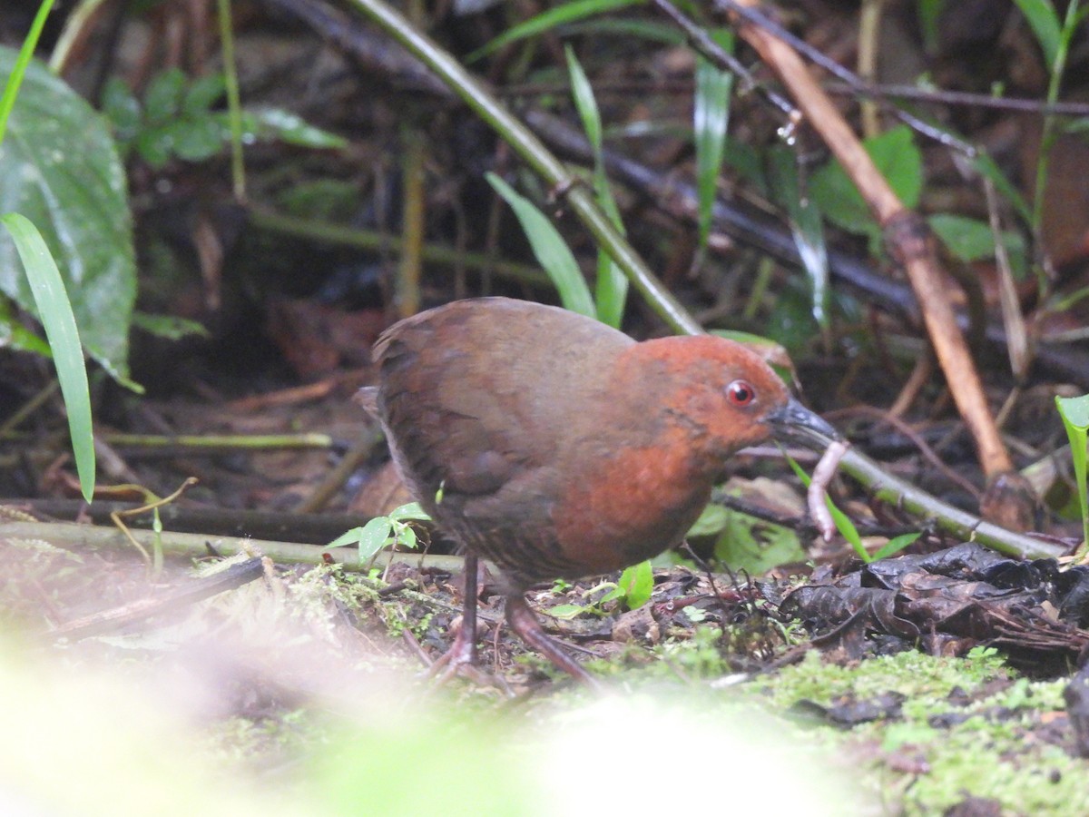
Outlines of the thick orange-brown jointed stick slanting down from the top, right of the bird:
[[[737,0],[750,9],[755,0]],[[847,175],[884,228],[885,241],[903,264],[922,309],[927,332],[934,345],[950,391],[976,441],[980,465],[989,477],[1013,470],[1013,461],[999,436],[994,416],[983,394],[983,385],[956,325],[945,293],[934,242],[926,222],[896,197],[869,154],[832,100],[813,80],[802,58],[788,45],[736,14],[738,33],[779,75],[815,131],[840,160]]]

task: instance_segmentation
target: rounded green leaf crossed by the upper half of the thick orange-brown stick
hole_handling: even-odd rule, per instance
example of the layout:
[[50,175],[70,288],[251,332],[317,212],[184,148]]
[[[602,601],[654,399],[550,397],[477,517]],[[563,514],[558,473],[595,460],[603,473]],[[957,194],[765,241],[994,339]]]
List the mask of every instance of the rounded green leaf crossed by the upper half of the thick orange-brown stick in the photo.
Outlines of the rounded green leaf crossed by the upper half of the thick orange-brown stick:
[[[862,144],[900,200],[914,208],[922,191],[922,156],[911,139],[910,129],[900,125]],[[809,194],[834,224],[880,242],[880,228],[839,161],[831,161],[812,174]]]

